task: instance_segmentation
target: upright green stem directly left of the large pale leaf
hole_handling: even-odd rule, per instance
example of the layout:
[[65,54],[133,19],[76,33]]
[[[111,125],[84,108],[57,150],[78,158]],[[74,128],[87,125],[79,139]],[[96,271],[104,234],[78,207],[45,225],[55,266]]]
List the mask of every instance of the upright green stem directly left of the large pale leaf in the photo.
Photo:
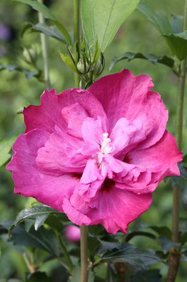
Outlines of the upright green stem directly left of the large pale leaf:
[[[74,51],[76,54],[76,42],[78,42],[79,45],[79,32],[80,32],[80,23],[79,23],[79,18],[80,18],[80,0],[74,0]],[[75,73],[75,86],[79,87],[79,75]]]

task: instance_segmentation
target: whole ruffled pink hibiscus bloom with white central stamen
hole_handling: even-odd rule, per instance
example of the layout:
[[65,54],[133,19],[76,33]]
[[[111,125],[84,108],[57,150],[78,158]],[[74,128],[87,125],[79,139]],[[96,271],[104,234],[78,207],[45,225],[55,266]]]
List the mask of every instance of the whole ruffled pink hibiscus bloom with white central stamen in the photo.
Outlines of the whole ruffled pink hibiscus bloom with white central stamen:
[[7,168],[15,193],[35,197],[78,224],[109,233],[150,206],[151,192],[179,175],[182,154],[167,132],[168,113],[148,75],[107,75],[88,90],[45,90],[24,109],[25,134]]

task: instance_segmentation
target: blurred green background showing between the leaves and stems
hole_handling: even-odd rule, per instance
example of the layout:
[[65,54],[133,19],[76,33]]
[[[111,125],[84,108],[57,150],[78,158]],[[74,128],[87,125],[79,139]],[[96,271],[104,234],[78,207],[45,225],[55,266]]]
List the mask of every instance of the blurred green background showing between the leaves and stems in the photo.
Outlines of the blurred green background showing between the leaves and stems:
[[[58,19],[72,31],[73,6],[72,0],[44,1]],[[149,0],[147,3],[155,11],[163,11],[167,15],[182,14],[183,1],[175,0]],[[21,47],[33,47],[38,53],[38,64],[42,68],[40,38],[38,33],[20,36],[24,22],[37,23],[37,12],[27,5],[13,3],[10,0],[0,1],[0,62],[19,63],[25,68],[30,66],[22,60]],[[49,49],[49,68],[51,85],[57,92],[74,86],[73,75],[60,59],[58,51],[65,51],[65,46],[55,39],[47,38]],[[157,55],[168,54],[164,40],[158,35],[155,27],[146,20],[138,10],[127,19],[115,36],[110,47],[105,51],[105,71],[108,74],[110,61],[114,56],[120,56],[126,51],[145,52]],[[112,72],[129,68],[134,74],[148,73],[155,84],[154,90],[160,92],[169,109],[169,122],[167,128],[174,133],[175,107],[177,96],[177,79],[166,66],[149,63],[145,60],[134,60],[128,63],[118,63]],[[22,114],[16,114],[18,109],[27,104],[39,104],[39,97],[44,90],[44,84],[37,79],[27,80],[19,72],[1,71],[0,73],[0,137],[18,135],[24,131]],[[185,107],[186,109],[186,101]],[[186,116],[183,130],[183,152],[186,153],[185,140],[187,137]],[[25,207],[27,199],[20,195],[13,195],[13,181],[11,173],[5,167],[0,168],[0,221],[14,219],[18,211]],[[185,213],[181,207],[181,216]],[[171,226],[172,218],[172,188],[170,184],[161,183],[153,194],[153,205],[134,224],[143,223],[156,226]],[[131,228],[134,228],[131,225]],[[153,247],[153,241],[142,238],[134,240],[134,244],[141,247]],[[0,281],[3,278],[23,278],[25,275],[25,262],[15,247],[10,247],[0,239]],[[178,282],[187,281],[187,263],[181,263]],[[162,274],[167,273],[167,266],[159,264]]]

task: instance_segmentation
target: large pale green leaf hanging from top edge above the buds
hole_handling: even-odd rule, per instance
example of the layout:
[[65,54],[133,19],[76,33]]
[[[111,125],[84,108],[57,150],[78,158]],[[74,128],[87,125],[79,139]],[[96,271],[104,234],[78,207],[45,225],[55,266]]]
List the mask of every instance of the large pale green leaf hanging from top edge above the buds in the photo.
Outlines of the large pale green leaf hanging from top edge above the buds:
[[105,51],[138,2],[139,0],[82,0],[82,28],[87,42],[94,46],[98,39],[101,51]]

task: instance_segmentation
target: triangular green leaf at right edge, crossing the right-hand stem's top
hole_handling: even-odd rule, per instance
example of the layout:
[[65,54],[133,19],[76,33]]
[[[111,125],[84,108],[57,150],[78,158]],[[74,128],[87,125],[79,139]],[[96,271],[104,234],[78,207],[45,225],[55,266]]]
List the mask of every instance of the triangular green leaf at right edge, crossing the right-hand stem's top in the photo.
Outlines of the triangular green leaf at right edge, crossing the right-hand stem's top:
[[163,35],[172,45],[172,53],[182,61],[187,56],[187,30],[180,33],[172,33]]

